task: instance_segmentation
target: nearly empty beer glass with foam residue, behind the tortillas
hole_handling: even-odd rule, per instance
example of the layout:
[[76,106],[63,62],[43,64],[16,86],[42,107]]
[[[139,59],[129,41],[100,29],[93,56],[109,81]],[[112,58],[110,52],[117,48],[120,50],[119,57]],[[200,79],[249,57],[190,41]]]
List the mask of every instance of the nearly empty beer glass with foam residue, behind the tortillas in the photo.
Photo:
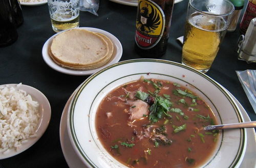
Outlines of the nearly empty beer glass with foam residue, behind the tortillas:
[[48,0],[48,7],[55,32],[79,26],[79,0]]

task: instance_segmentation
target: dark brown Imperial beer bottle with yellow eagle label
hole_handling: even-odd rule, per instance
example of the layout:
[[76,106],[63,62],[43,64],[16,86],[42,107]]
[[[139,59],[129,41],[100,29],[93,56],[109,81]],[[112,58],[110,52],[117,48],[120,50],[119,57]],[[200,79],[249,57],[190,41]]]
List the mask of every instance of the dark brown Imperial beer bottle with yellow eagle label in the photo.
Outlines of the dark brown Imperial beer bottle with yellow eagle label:
[[139,0],[135,51],[145,58],[159,58],[169,38],[174,0]]

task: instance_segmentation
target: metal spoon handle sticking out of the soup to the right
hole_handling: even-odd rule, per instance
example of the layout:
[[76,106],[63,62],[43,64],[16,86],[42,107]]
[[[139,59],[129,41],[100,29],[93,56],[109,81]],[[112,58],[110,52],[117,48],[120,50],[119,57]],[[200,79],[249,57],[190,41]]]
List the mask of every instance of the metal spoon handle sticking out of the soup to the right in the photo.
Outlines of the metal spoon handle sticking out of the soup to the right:
[[256,121],[223,124],[223,125],[208,125],[204,127],[204,130],[215,130],[215,129],[232,129],[232,128],[254,128],[256,127]]

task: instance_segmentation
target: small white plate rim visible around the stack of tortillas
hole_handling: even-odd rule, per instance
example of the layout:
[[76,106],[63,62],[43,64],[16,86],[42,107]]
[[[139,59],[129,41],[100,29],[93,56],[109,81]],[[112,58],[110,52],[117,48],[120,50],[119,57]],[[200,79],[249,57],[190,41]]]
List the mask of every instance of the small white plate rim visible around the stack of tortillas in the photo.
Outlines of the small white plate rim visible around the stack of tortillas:
[[69,75],[91,75],[109,65],[117,63],[121,59],[122,52],[123,52],[122,45],[121,45],[120,41],[114,35],[110,34],[109,32],[106,32],[106,31],[103,31],[100,29],[96,29],[93,27],[79,27],[79,28],[75,28],[75,29],[85,29],[88,31],[101,33],[101,34],[104,34],[105,36],[109,37],[114,44],[114,53],[112,55],[111,60],[108,63],[106,63],[105,65],[103,65],[102,67],[96,68],[96,69],[91,69],[91,70],[73,70],[73,69],[64,68],[62,66],[59,66],[51,59],[51,57],[49,55],[49,49],[51,47],[52,40],[55,36],[57,36],[59,33],[61,33],[61,32],[59,32],[59,33],[53,35],[52,37],[50,37],[46,41],[44,46],[42,47],[42,58],[45,60],[46,64],[48,64],[52,69],[54,69],[58,72],[61,72],[61,73],[69,74]]

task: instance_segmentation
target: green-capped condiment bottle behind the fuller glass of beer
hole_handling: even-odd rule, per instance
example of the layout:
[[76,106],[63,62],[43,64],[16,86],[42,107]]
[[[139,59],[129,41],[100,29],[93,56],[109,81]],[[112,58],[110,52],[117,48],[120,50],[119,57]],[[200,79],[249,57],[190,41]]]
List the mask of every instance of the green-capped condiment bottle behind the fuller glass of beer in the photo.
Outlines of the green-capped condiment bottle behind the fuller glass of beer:
[[238,20],[242,9],[244,7],[244,0],[229,0],[234,5],[234,12],[232,14],[232,18],[230,20],[227,31],[233,32],[237,29]]

